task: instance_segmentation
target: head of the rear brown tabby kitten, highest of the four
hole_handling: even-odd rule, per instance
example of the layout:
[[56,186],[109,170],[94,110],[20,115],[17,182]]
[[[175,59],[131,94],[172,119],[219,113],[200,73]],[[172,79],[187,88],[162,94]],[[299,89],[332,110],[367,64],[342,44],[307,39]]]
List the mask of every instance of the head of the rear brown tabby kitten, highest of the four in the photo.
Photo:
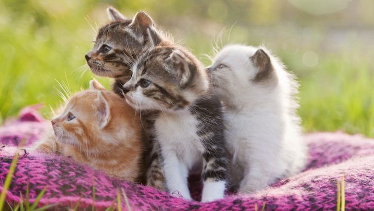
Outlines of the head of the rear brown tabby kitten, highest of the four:
[[122,95],[122,86],[131,78],[130,67],[144,50],[173,43],[145,12],[126,19],[113,7],[107,8],[111,22],[100,27],[94,48],[86,54],[92,73],[115,79],[113,91]]

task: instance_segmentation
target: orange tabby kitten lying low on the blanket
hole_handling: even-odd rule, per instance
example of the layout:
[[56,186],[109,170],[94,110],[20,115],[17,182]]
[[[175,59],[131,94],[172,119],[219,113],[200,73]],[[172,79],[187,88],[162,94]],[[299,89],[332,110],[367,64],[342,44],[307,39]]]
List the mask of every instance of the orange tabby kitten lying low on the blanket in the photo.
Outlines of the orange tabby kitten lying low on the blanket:
[[136,181],[141,171],[141,125],[125,100],[95,79],[52,119],[54,135],[36,149],[71,157],[110,176]]

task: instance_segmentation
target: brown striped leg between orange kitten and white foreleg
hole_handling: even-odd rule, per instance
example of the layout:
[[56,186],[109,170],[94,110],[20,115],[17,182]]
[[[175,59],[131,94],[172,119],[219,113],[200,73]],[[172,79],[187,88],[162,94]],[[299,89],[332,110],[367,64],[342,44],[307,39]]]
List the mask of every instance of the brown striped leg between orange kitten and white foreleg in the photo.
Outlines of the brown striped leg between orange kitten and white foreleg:
[[147,169],[147,185],[167,192],[163,170],[163,159],[158,144],[152,149],[151,165]]

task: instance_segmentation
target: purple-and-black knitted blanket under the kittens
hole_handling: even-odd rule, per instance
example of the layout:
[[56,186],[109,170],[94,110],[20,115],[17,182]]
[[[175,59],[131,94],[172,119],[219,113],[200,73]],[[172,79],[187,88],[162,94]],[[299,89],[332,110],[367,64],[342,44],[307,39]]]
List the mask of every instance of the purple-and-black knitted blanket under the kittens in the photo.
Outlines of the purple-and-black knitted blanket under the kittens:
[[[29,107],[20,112],[17,120],[0,127],[0,142],[3,144],[0,148],[0,191],[16,152],[15,146],[23,138],[26,139],[26,145],[40,139],[46,124],[48,123]],[[59,203],[57,210],[74,207],[80,198],[78,210],[91,210],[92,206],[95,210],[105,210],[116,200],[117,191],[121,194],[124,191],[131,209],[135,211],[254,211],[255,204],[257,210],[261,210],[264,202],[266,211],[335,211],[337,181],[342,181],[344,172],[345,210],[374,210],[373,139],[343,132],[312,133],[305,138],[310,147],[310,158],[304,172],[257,193],[240,195],[227,192],[224,199],[204,204],[172,197],[152,187],[111,178],[69,158],[20,151],[21,156],[6,201],[9,204],[19,203],[20,194],[26,198],[29,184],[31,203],[47,187],[38,207]],[[200,200],[201,197],[199,180],[198,174],[191,174],[188,180],[195,200]],[[122,196],[124,210],[125,206]]]

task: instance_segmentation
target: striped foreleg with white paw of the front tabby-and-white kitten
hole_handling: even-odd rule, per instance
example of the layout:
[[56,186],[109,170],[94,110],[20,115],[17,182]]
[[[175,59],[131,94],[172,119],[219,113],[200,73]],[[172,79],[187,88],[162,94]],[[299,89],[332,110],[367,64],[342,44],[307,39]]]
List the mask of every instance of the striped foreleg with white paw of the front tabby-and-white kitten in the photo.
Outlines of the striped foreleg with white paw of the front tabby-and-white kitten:
[[202,179],[204,183],[201,202],[211,202],[224,197],[227,179],[227,156],[224,149],[210,146],[204,156]]

